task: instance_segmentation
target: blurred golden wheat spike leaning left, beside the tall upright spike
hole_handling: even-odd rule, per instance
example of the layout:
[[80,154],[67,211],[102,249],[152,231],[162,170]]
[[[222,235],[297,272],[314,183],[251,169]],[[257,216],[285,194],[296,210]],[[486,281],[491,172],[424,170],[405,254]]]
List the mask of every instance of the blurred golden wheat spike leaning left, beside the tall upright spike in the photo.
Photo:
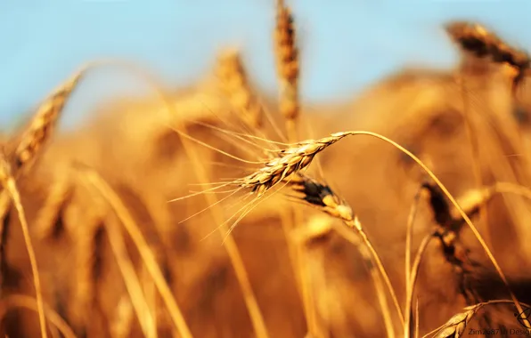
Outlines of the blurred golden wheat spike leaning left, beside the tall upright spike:
[[218,57],[216,75],[223,92],[234,108],[240,111],[243,122],[251,129],[260,128],[264,109],[250,88],[240,53],[233,49],[222,52]]

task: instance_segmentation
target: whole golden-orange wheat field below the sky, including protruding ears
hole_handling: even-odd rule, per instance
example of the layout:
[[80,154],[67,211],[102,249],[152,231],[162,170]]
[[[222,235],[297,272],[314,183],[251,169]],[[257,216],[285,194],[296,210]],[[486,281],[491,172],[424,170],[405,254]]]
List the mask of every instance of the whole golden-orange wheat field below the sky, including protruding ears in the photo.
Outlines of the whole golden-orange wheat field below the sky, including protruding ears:
[[[531,334],[527,53],[449,22],[453,68],[310,109],[276,14],[278,97],[236,49],[178,89],[95,60],[2,135],[1,336]],[[150,93],[57,133],[102,66]]]

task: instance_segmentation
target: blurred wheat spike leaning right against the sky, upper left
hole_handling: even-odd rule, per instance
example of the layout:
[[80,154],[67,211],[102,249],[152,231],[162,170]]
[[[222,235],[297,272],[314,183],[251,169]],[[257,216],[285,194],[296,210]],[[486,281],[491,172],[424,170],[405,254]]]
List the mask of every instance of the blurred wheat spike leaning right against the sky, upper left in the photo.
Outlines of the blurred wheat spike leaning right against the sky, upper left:
[[83,68],[71,76],[39,106],[12,154],[15,172],[35,158],[44,143],[51,138],[66,101],[85,73],[86,68]]

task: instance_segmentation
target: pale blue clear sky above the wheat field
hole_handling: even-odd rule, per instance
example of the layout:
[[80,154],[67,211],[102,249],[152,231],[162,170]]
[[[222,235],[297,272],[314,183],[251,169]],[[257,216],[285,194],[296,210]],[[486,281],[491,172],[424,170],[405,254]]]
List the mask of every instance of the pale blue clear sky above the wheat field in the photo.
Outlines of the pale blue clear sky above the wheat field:
[[[528,0],[286,0],[296,14],[301,92],[339,100],[406,65],[449,67],[456,52],[441,25],[478,20],[507,40],[531,46]],[[274,0],[2,0],[0,125],[29,111],[87,60],[119,57],[192,84],[214,53],[241,46],[250,76],[274,94]],[[114,95],[145,90],[123,72],[89,76],[65,122],[86,118]]]

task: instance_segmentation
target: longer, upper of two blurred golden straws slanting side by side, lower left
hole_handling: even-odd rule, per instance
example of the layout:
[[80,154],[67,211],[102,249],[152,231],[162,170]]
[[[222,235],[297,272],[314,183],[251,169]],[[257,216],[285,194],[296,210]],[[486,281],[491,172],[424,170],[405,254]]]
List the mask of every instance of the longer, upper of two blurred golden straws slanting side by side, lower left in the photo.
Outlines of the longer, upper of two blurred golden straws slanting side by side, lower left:
[[84,181],[89,183],[90,187],[94,188],[107,201],[107,203],[109,203],[110,207],[127,230],[127,233],[131,239],[133,239],[133,242],[142,257],[146,268],[149,270],[151,278],[153,278],[153,281],[162,296],[162,300],[165,302],[167,310],[181,337],[192,338],[192,333],[186,325],[183,313],[177,305],[169,286],[167,286],[167,282],[157,264],[157,260],[151,252],[150,246],[143,237],[142,231],[138,228],[133,216],[131,216],[127,210],[127,206],[123,204],[118,195],[98,173],[84,165],[77,165],[77,167],[82,174]]

